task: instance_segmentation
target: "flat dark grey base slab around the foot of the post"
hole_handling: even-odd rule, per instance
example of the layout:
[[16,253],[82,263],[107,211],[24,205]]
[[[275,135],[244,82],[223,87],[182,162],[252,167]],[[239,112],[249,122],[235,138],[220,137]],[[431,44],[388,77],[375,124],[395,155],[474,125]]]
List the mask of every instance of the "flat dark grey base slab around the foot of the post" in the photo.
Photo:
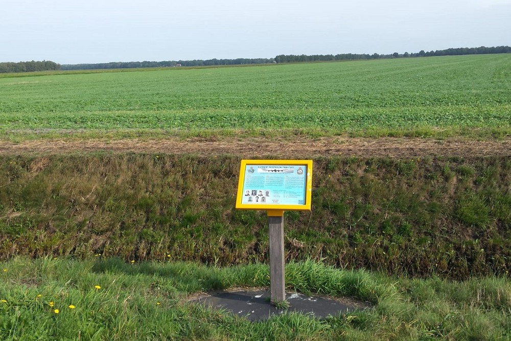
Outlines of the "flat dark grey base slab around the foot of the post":
[[311,317],[324,318],[328,315],[338,316],[349,311],[361,310],[367,304],[353,299],[328,299],[307,296],[297,292],[287,292],[286,300],[290,307],[277,309],[270,303],[269,290],[222,291],[207,295],[191,302],[196,302],[213,309],[224,309],[236,315],[246,317],[249,321],[267,320],[274,315],[290,312],[309,314]]

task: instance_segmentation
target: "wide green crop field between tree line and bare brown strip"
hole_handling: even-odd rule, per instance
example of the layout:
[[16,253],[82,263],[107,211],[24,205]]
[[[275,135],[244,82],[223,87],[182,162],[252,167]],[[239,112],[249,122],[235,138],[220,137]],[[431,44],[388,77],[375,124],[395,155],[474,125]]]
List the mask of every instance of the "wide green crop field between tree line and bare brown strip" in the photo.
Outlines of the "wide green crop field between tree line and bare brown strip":
[[503,137],[511,131],[509,70],[511,55],[503,54],[11,75],[0,78],[0,133],[278,128]]

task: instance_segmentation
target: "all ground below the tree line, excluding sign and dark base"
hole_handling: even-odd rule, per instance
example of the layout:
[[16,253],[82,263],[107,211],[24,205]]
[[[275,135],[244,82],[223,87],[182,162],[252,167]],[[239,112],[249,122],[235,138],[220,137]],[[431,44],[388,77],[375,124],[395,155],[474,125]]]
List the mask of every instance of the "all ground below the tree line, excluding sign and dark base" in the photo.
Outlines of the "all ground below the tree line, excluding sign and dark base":
[[[0,339],[511,339],[511,54],[0,75]],[[286,289],[242,158],[312,159]]]

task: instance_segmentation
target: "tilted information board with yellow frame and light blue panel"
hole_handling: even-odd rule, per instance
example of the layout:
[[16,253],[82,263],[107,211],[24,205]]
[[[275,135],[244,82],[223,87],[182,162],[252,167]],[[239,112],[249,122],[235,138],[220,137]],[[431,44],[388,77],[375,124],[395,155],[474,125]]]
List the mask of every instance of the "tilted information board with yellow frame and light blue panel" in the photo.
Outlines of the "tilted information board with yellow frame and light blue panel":
[[242,160],[236,208],[310,211],[312,160]]

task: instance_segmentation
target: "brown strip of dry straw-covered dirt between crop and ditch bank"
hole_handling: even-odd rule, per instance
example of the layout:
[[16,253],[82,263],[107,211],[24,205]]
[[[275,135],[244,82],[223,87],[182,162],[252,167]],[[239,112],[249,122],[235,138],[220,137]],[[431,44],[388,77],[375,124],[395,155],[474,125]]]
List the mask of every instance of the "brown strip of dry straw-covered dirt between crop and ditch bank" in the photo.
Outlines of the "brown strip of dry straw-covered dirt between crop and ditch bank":
[[331,155],[357,156],[511,156],[511,139],[501,141],[434,140],[408,138],[298,138],[279,140],[265,138],[221,138],[217,140],[192,138],[179,140],[35,140],[21,143],[0,141],[0,154],[57,154],[69,152],[145,152],[197,153],[203,155],[237,154],[243,157],[282,156],[314,157]]

